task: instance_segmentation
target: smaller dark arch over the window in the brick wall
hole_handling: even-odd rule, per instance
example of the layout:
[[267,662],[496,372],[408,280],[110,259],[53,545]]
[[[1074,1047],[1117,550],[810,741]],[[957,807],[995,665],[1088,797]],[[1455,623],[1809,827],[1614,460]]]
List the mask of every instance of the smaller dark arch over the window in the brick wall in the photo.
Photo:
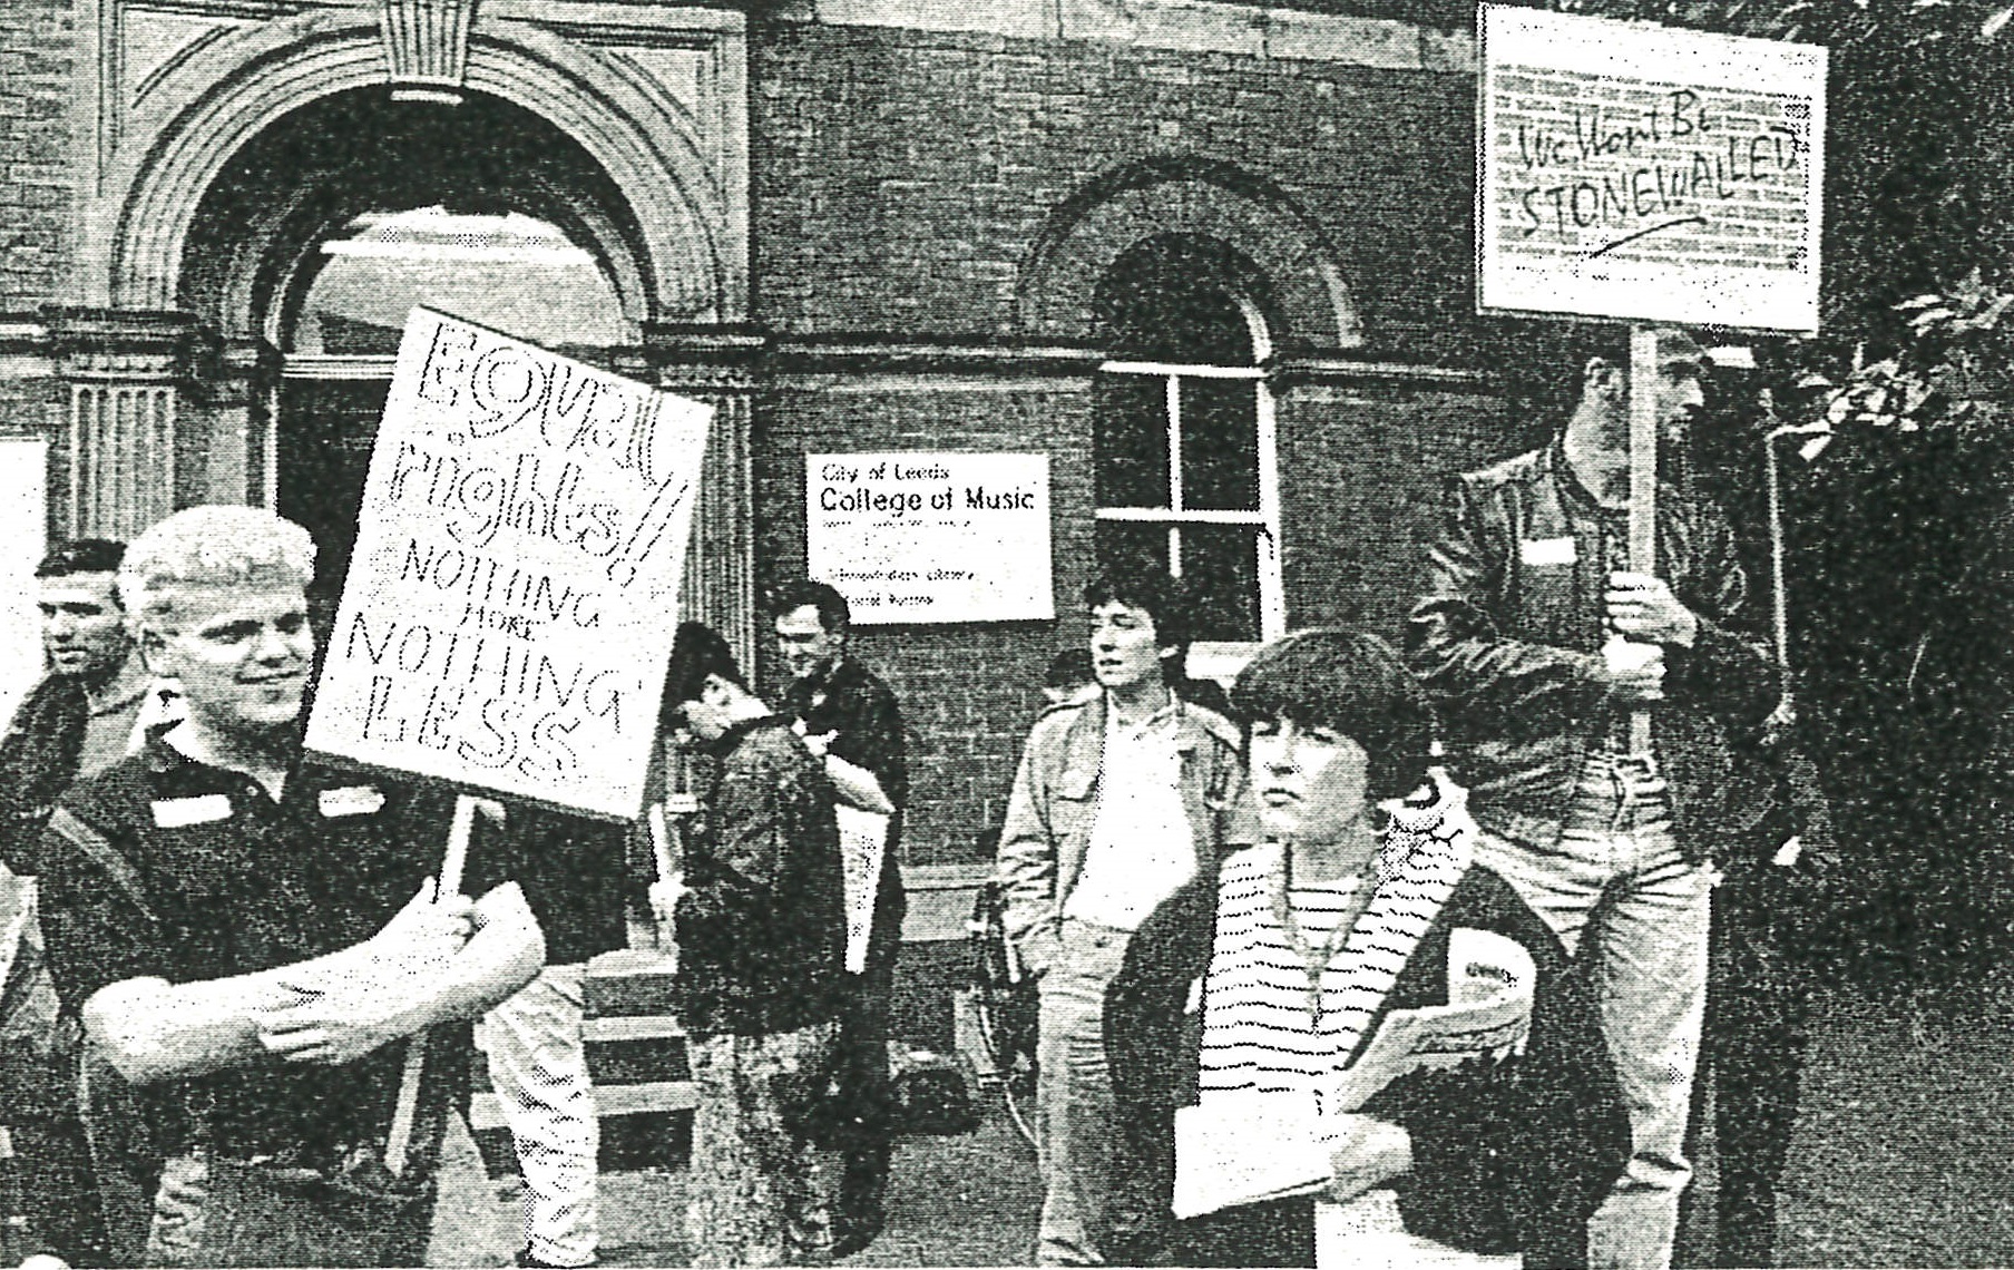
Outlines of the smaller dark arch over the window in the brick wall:
[[1019,328],[1037,338],[1094,338],[1100,282],[1134,246],[1162,235],[1220,242],[1267,280],[1275,348],[1355,348],[1357,310],[1321,227],[1271,181],[1206,159],[1148,159],[1065,199],[1021,270]]

